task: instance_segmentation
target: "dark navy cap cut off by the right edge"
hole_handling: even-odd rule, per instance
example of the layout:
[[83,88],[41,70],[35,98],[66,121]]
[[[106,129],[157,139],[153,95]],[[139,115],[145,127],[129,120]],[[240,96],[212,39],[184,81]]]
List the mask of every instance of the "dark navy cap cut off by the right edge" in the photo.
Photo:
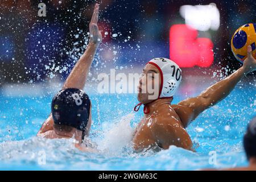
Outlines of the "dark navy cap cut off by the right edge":
[[246,134],[243,137],[243,147],[248,160],[251,157],[256,158],[256,117],[250,121],[247,127]]

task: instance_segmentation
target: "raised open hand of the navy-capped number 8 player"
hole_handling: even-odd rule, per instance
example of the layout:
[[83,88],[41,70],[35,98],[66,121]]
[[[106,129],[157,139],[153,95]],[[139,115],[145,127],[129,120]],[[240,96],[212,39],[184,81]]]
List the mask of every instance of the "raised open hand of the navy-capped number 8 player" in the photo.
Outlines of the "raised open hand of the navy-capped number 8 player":
[[98,25],[97,25],[97,23],[98,23],[98,9],[99,9],[99,6],[96,3],[96,5],[94,6],[92,19],[90,20],[90,24],[89,24],[90,42],[96,44],[97,46],[102,41],[102,35],[101,35],[101,32],[98,30]]

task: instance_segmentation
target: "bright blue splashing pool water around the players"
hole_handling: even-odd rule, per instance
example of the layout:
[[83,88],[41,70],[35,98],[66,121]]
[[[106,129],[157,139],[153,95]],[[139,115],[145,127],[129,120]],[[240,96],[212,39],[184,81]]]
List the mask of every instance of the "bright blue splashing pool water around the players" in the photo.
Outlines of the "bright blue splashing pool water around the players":
[[[225,100],[204,111],[187,127],[196,152],[171,146],[158,153],[140,154],[133,152],[130,143],[143,115],[142,109],[133,111],[135,94],[88,92],[93,106],[90,139],[101,151],[91,154],[74,148],[72,139],[35,137],[50,113],[55,92],[42,96],[1,92],[0,169],[195,170],[246,166],[242,137],[256,111],[256,92],[255,85],[245,85],[238,84]],[[198,88],[193,96],[201,91]],[[173,103],[186,97],[178,92]]]

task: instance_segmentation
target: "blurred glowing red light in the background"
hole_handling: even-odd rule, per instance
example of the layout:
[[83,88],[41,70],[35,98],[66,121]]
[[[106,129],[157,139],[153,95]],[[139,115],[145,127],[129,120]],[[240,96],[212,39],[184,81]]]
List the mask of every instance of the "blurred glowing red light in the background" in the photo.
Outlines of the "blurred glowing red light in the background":
[[170,59],[182,68],[210,67],[213,63],[212,40],[197,35],[197,30],[186,24],[170,28]]

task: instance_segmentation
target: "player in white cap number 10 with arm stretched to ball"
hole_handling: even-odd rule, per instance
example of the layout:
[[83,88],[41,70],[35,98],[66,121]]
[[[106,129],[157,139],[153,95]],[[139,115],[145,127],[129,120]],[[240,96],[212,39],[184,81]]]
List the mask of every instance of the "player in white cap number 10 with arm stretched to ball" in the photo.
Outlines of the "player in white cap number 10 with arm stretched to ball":
[[[188,98],[177,105],[172,105],[171,102],[181,81],[180,68],[174,61],[166,58],[149,61],[139,81],[140,103],[134,107],[134,110],[138,111],[139,107],[144,105],[144,117],[133,136],[134,149],[142,151],[155,146],[168,149],[175,145],[193,150],[191,138],[185,128],[205,109],[228,96],[243,76],[256,70],[256,60],[251,52],[249,46],[242,67],[232,75],[210,86],[199,96]],[[155,89],[154,93],[148,92],[148,85],[154,84],[158,85],[159,89]],[[156,97],[150,98],[155,93]]]

